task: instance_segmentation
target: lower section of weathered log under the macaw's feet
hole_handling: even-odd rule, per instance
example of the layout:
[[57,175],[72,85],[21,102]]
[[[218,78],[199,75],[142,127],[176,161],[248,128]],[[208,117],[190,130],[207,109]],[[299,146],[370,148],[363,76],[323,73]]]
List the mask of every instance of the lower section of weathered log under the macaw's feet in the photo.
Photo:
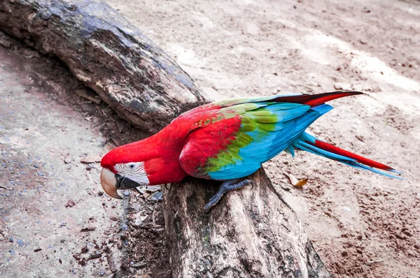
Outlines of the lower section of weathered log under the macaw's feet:
[[165,192],[173,277],[331,277],[265,171],[251,180],[209,214],[204,204],[220,182],[190,178]]

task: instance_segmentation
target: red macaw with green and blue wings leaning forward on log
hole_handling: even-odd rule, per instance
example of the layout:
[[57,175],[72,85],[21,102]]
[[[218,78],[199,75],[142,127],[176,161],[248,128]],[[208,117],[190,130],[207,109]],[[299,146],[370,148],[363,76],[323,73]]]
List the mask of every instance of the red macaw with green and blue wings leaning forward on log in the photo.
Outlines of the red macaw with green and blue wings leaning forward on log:
[[[117,189],[181,182],[191,175],[224,181],[205,206],[209,210],[223,193],[239,189],[261,164],[279,152],[304,150],[355,168],[395,177],[390,166],[339,149],[304,132],[332,109],[335,98],[363,94],[332,92],[265,96],[218,101],[194,108],[154,136],[111,150],[101,161],[104,191],[121,198]],[[377,168],[377,169],[376,169]]]

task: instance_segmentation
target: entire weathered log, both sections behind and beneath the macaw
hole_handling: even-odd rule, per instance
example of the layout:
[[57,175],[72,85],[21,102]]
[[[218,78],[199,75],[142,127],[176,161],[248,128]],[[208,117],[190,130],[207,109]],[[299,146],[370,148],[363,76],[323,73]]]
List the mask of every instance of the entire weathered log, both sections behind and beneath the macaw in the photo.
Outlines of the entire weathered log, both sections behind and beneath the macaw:
[[[105,3],[0,0],[0,28],[54,54],[141,129],[157,132],[209,101],[193,80]],[[173,277],[330,277],[295,212],[264,170],[208,214],[220,182],[186,179],[164,189]]]

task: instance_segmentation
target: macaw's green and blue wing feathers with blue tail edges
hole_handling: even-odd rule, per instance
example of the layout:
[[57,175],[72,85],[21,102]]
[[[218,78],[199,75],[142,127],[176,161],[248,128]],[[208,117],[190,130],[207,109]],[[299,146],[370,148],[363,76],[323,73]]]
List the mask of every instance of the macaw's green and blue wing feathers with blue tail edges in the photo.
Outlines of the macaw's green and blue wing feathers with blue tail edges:
[[[291,98],[288,96],[291,96]],[[329,152],[330,149],[325,150],[316,147],[316,140],[318,139],[304,131],[318,117],[332,110],[332,106],[325,103],[316,105],[313,101],[310,101],[311,96],[309,95],[304,99],[308,99],[311,105],[301,104],[304,101],[300,103],[279,102],[293,101],[299,98],[299,95],[288,96],[242,98],[214,103],[215,105],[221,105],[221,112],[234,113],[241,117],[241,131],[237,133],[236,140],[246,147],[228,150],[227,152],[235,155],[232,156],[232,159],[229,156],[223,156],[225,159],[220,158],[224,165],[213,172],[209,170],[208,174],[212,179],[230,180],[251,175],[260,168],[262,163],[272,159],[282,151],[294,156],[295,149],[318,154],[354,168],[370,170],[387,177],[395,177],[361,164],[356,159]],[[293,98],[293,96],[297,96],[297,98]],[[249,143],[250,141],[251,143]],[[395,170],[390,171],[399,173]]]

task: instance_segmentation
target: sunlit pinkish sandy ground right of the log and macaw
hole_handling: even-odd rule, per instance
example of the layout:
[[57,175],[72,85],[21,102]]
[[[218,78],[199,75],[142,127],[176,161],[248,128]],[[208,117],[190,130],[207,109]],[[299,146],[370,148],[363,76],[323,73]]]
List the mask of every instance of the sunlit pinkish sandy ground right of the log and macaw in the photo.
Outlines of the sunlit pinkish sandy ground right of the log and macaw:
[[[307,153],[265,164],[337,277],[420,277],[418,1],[126,1],[111,5],[216,99],[335,89],[311,133],[404,172]],[[307,177],[302,190],[283,173]]]

